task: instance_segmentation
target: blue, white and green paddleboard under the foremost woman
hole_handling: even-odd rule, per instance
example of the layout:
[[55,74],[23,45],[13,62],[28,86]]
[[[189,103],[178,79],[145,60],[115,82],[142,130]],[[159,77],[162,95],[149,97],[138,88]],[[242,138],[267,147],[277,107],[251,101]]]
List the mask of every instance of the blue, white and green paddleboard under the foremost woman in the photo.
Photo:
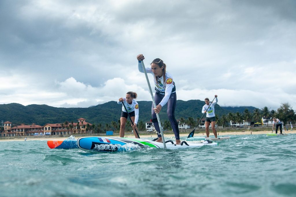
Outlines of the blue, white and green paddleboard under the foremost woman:
[[[163,143],[155,142],[147,139],[138,138],[119,138],[119,137],[83,137],[77,141],[78,147],[83,151],[99,151],[99,152],[121,152],[133,150],[137,148],[164,148]],[[200,146],[217,146],[218,143],[212,141],[204,141],[202,143],[182,143],[175,145],[171,142],[166,143],[168,149],[194,148]]]

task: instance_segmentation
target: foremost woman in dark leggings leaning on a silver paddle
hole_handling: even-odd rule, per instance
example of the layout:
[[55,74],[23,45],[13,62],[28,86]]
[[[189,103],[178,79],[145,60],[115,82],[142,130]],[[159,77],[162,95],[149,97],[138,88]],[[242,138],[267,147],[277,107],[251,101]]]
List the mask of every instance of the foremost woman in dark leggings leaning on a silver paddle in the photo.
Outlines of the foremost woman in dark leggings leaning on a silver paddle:
[[[141,61],[145,58],[143,54],[137,56],[139,61],[138,69],[140,72],[144,72]],[[170,120],[170,125],[172,126],[173,132],[176,138],[176,144],[181,144],[179,136],[178,122],[175,118],[175,108],[176,108],[176,86],[173,81],[173,76],[166,71],[166,65],[163,63],[163,60],[156,58],[150,64],[150,68],[146,68],[147,73],[154,75],[154,84],[155,84],[155,95],[154,100],[156,108],[152,104],[152,122],[154,124],[155,130],[157,131],[157,142],[162,142],[162,137],[160,134],[160,128],[158,125],[156,114],[158,114],[161,108],[167,104],[167,115]]]

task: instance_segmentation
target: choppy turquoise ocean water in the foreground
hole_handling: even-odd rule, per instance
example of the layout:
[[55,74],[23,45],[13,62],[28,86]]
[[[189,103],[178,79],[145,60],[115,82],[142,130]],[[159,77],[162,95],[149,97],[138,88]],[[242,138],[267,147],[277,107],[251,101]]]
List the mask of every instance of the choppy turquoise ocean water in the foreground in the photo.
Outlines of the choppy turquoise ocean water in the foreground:
[[123,153],[0,142],[0,196],[296,196],[295,134],[230,137]]

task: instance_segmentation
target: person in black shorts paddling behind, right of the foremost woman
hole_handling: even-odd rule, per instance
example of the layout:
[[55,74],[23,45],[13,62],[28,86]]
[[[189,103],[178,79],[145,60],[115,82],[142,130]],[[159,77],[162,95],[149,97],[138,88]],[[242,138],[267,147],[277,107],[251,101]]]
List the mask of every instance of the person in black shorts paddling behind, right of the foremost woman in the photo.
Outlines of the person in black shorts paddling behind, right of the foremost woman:
[[210,123],[211,123],[211,127],[213,130],[213,133],[215,135],[215,138],[217,138],[217,132],[215,129],[215,124],[216,124],[216,118],[215,118],[215,104],[217,104],[218,99],[217,99],[217,95],[215,95],[215,101],[213,101],[213,103],[210,106],[210,100],[209,98],[205,98],[205,105],[202,107],[202,113],[207,113],[207,117],[205,119],[205,133],[207,134],[207,138],[210,136],[210,131],[209,131],[209,127],[210,127]]

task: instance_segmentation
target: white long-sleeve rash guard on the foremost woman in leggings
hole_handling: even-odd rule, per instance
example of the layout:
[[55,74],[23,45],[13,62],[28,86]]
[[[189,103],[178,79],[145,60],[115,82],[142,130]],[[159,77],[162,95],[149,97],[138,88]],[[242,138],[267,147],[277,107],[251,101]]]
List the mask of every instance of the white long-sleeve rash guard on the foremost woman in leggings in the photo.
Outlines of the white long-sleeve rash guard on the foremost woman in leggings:
[[[138,64],[138,69],[140,72],[144,72],[142,64],[139,62]],[[161,100],[161,102],[159,103],[161,106],[164,106],[167,102],[168,99],[170,98],[170,94],[174,93],[176,91],[173,91],[173,88],[175,87],[174,83],[173,83],[173,76],[169,73],[169,72],[165,72],[165,83],[163,84],[163,76],[162,77],[157,77],[157,81],[155,80],[154,74],[152,72],[151,68],[145,68],[147,73],[150,73],[153,75],[153,81],[155,84],[156,89],[159,92],[164,92],[164,97]]]

